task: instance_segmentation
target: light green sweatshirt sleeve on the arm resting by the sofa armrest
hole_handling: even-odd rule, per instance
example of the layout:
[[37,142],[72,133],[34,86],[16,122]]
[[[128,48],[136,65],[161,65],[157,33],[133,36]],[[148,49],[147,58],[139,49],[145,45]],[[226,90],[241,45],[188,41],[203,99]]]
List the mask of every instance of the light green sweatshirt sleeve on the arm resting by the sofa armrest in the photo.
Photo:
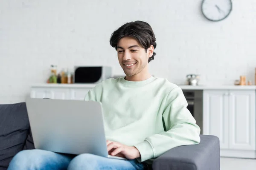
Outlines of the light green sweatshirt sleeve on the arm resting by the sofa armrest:
[[139,162],[156,158],[173,147],[200,142],[200,127],[195,124],[187,105],[181,88],[176,87],[170,91],[162,114],[165,130],[134,145],[140,151],[141,157],[137,159]]

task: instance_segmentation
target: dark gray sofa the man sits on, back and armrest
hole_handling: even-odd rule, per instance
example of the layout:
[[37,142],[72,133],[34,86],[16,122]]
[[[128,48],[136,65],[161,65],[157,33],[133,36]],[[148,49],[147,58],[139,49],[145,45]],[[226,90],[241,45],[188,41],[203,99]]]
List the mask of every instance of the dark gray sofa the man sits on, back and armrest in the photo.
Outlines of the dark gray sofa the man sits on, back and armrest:
[[[34,149],[24,102],[0,105],[0,170],[21,150]],[[175,147],[154,160],[153,170],[220,170],[219,139],[201,135],[200,144]]]

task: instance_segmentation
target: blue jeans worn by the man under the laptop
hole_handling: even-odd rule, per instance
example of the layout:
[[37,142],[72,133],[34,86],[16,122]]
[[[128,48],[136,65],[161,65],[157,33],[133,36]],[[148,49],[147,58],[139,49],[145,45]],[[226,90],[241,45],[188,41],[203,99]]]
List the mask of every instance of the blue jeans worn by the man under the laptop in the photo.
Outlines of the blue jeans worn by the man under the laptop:
[[143,170],[134,160],[110,159],[85,153],[78,156],[46,150],[23,150],[17,153],[8,170]]

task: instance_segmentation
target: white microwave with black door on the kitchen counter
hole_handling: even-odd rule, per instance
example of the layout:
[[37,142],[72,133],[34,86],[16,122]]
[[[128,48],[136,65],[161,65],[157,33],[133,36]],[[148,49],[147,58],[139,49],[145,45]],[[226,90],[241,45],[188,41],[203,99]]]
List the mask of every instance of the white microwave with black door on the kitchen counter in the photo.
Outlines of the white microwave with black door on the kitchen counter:
[[75,66],[73,83],[99,83],[112,77],[109,66]]

